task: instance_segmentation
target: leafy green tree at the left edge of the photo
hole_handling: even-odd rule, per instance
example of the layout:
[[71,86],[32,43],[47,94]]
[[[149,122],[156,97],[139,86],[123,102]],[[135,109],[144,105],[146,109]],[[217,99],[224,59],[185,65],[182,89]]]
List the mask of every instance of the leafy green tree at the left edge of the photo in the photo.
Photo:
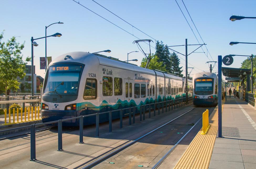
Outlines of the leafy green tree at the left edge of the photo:
[[[19,82],[17,76],[24,77],[25,65],[27,64],[22,60],[21,50],[24,48],[24,43],[16,42],[13,36],[7,42],[1,42],[3,39],[3,32],[0,34],[0,87],[1,90],[7,94],[8,89],[18,89]],[[26,61],[30,61],[27,57]]]

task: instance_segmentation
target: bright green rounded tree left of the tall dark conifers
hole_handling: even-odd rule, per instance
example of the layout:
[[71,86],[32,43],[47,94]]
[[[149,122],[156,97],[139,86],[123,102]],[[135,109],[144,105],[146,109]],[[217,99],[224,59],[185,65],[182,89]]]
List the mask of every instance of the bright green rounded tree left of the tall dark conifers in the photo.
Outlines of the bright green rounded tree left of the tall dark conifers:
[[[145,67],[147,64],[147,58],[144,57],[141,61],[140,67]],[[166,66],[164,65],[163,61],[160,61],[159,57],[156,55],[152,55],[150,64],[149,64],[149,69],[151,70],[161,70],[166,72]]]

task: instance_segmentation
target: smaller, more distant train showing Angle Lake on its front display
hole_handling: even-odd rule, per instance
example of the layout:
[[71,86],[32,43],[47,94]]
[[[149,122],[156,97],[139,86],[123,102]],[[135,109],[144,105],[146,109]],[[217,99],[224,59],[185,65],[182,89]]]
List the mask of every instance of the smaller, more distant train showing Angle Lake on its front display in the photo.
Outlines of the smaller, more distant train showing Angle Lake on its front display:
[[196,73],[192,81],[194,105],[218,104],[218,77],[215,73]]

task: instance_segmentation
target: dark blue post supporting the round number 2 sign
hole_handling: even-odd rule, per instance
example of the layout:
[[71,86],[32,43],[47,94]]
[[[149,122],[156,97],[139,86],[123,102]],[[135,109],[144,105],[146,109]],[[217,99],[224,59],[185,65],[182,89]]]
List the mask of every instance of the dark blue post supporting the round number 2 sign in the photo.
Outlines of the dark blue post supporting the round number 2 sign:
[[222,100],[221,100],[221,67],[222,67],[222,56],[218,56],[218,137],[222,138]]

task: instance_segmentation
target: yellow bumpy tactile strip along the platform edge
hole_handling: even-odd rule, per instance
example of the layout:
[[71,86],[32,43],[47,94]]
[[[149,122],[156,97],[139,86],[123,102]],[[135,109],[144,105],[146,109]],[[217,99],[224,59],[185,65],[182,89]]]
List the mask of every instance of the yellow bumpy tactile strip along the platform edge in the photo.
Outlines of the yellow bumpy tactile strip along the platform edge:
[[[223,109],[224,104],[222,104]],[[208,134],[202,135],[201,130],[189,144],[174,168],[208,168],[213,146],[218,132],[218,110],[209,117],[211,125]]]

